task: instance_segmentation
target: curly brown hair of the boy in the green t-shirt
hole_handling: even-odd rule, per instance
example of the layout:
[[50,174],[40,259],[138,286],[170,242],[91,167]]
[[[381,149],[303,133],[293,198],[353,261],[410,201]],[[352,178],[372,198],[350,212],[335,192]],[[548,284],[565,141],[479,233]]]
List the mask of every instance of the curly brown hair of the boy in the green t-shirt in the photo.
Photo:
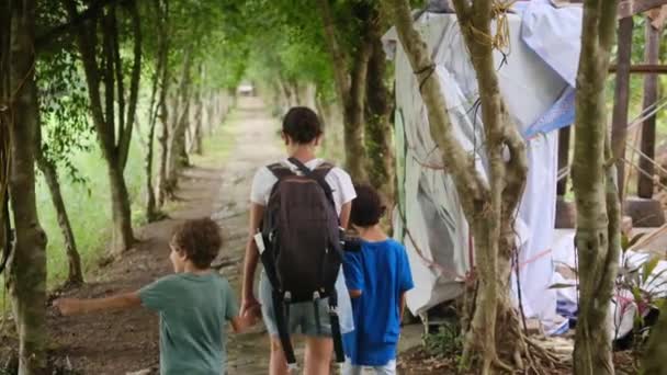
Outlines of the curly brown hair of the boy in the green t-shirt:
[[221,228],[207,217],[179,225],[171,238],[171,246],[184,253],[197,269],[210,268],[222,245]]

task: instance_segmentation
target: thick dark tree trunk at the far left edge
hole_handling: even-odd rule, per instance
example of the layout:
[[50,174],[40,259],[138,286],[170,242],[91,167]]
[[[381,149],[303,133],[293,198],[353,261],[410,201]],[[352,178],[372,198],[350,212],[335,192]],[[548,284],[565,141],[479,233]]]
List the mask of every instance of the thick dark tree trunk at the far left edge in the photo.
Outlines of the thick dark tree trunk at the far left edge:
[[7,284],[19,333],[19,374],[46,373],[46,235],[35,203],[35,145],[39,126],[35,63],[35,1],[0,4],[0,110],[2,132],[9,130],[9,193],[15,242]]

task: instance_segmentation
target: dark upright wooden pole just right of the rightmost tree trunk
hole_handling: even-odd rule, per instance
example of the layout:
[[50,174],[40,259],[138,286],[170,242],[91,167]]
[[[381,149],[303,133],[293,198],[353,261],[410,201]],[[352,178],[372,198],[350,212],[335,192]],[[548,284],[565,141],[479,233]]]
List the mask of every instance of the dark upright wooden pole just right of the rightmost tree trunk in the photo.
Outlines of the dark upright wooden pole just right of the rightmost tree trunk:
[[617,159],[619,195],[623,197],[625,179],[625,139],[628,138],[628,107],[630,105],[630,66],[632,57],[632,18],[621,19],[618,30],[618,71],[611,128],[611,148]]

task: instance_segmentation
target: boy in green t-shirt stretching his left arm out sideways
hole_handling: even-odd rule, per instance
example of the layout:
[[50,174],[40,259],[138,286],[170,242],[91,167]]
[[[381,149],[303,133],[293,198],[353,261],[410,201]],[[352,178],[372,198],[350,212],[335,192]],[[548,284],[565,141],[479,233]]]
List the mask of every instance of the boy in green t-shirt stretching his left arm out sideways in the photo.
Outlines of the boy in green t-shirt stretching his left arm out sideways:
[[145,306],[160,315],[160,374],[225,374],[226,326],[235,332],[252,326],[259,309],[244,317],[229,283],[211,269],[222,245],[210,218],[188,220],[171,239],[174,274],[137,292],[106,298],[63,298],[64,315]]

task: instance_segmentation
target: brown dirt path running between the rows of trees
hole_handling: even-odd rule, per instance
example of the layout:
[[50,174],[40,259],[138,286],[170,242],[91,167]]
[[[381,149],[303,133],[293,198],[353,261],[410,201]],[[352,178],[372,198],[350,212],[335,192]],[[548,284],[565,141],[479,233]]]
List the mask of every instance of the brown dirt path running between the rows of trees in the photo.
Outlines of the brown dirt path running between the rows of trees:
[[[142,242],[136,249],[100,269],[86,286],[68,295],[100,297],[134,291],[170,273],[171,229],[183,219],[202,216],[211,216],[223,228],[221,272],[237,294],[240,292],[252,175],[259,166],[275,160],[283,150],[275,139],[278,123],[257,99],[242,99],[235,120],[225,126],[226,134],[234,138],[233,150],[217,164],[183,173],[177,194],[179,208],[169,213],[171,218],[140,228]],[[60,317],[50,311],[49,327],[56,356],[66,359],[82,374],[157,373],[158,319],[145,309],[83,317]],[[419,334],[416,326],[404,330],[402,346],[419,342]],[[227,350],[229,375],[267,374],[269,341],[261,325],[245,334],[230,334]]]

